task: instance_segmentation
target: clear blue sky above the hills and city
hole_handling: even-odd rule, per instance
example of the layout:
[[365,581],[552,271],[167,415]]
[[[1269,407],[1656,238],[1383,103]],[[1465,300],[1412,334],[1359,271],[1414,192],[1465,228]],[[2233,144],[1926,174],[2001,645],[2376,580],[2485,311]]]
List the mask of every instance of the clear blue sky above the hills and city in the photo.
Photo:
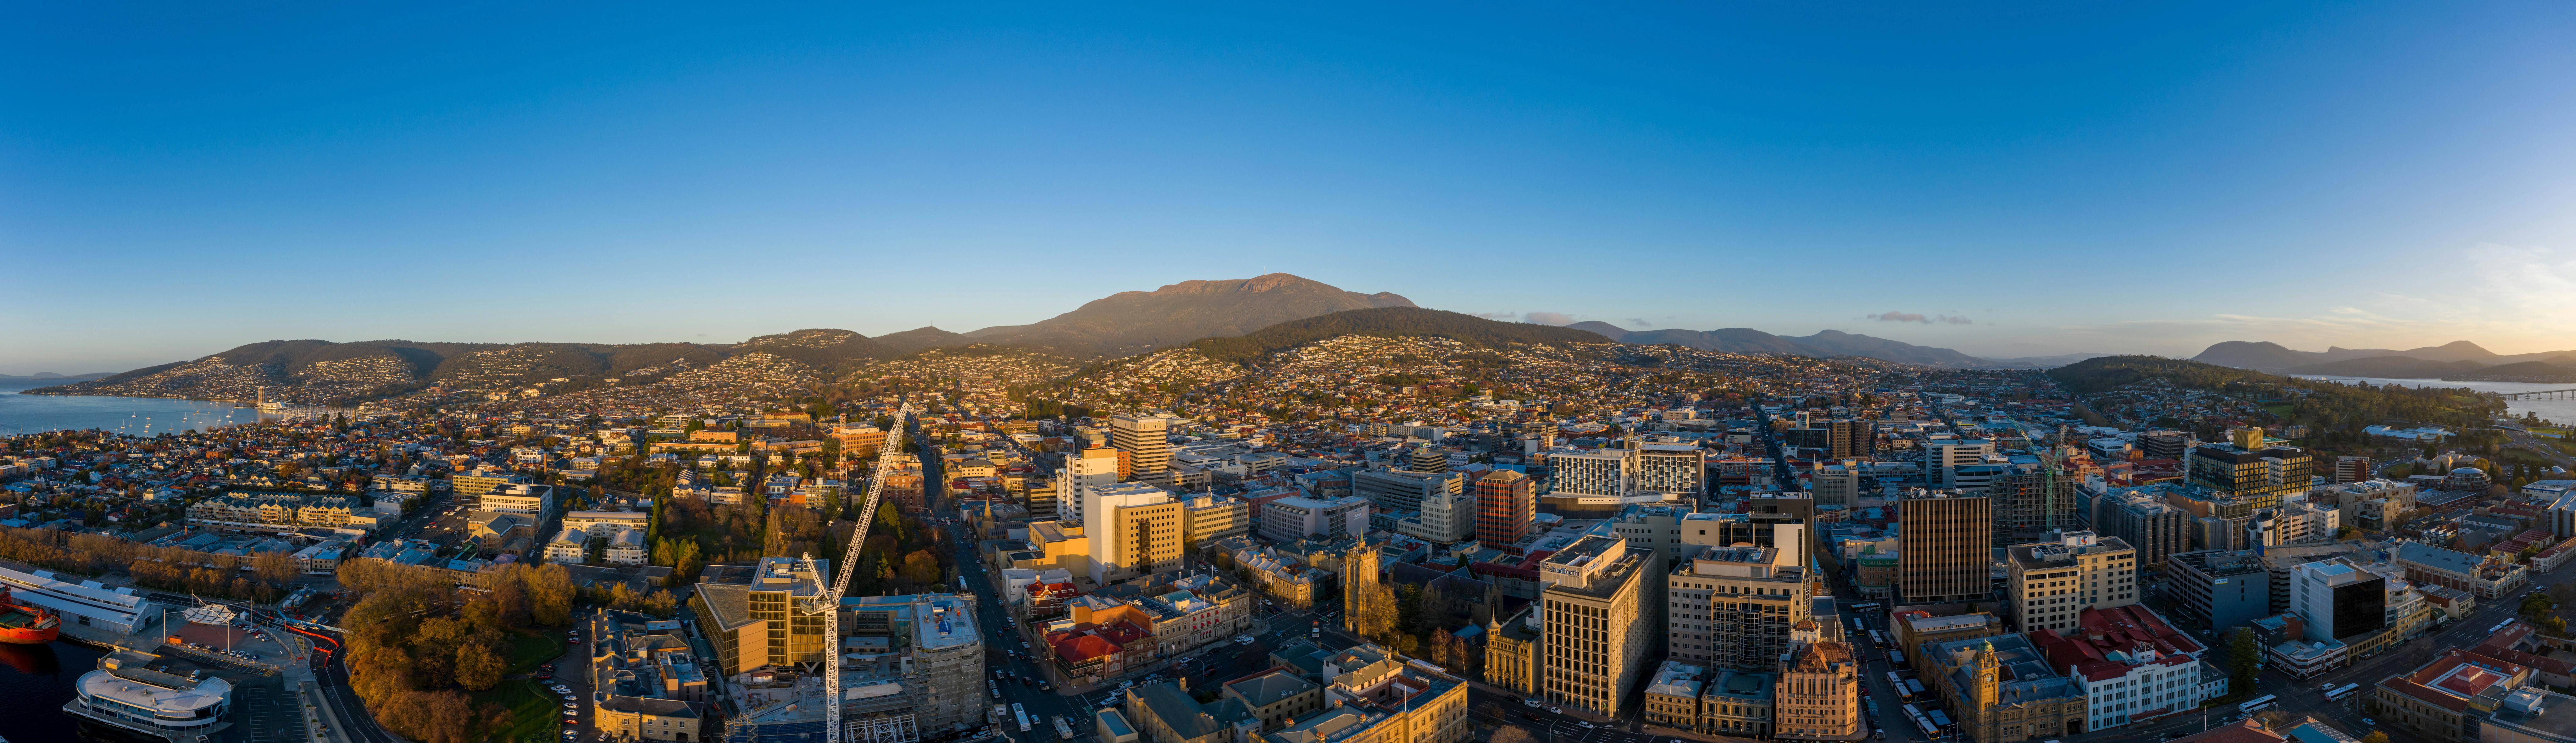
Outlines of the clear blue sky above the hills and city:
[[1981,356],[2576,348],[2568,3],[152,5],[0,23],[0,374],[1267,271]]

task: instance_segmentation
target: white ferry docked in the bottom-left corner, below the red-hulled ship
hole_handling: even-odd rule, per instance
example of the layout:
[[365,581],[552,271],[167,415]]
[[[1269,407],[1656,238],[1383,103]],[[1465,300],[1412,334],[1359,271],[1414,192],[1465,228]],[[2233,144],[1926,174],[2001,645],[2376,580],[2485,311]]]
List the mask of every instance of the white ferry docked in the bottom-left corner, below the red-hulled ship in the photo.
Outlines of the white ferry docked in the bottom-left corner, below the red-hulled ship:
[[139,735],[142,740],[214,743],[232,722],[232,681],[204,671],[167,673],[160,655],[116,650],[98,658],[98,671],[80,673],[72,702],[62,712],[85,722]]

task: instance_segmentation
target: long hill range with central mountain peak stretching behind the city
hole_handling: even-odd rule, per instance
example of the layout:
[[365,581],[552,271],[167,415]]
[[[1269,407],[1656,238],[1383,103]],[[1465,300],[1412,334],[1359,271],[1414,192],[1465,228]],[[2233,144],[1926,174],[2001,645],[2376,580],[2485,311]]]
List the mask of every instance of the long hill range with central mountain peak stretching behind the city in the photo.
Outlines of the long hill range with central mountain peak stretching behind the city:
[[[1417,307],[1399,294],[1360,294],[1291,273],[1226,281],[1180,281],[1154,292],[1118,292],[1030,325],[969,333],[914,328],[860,335],[806,328],[742,343],[425,343],[425,341],[263,341],[124,374],[59,377],[49,395],[139,395],[250,400],[258,387],[296,402],[358,402],[422,387],[448,390],[582,390],[590,384],[657,382],[716,364],[793,361],[840,374],[871,361],[930,348],[1028,348],[1069,359],[1123,359],[1195,346],[1216,359],[1255,359],[1332,335],[1440,335],[1471,346],[1499,343],[1680,343],[1734,353],[1868,356],[1955,369],[2048,369],[2105,353],[2043,359],[1978,359],[1842,330],[1772,335],[1752,328],[1625,330],[1607,322],[1535,325]],[[57,382],[49,377],[49,382]]]

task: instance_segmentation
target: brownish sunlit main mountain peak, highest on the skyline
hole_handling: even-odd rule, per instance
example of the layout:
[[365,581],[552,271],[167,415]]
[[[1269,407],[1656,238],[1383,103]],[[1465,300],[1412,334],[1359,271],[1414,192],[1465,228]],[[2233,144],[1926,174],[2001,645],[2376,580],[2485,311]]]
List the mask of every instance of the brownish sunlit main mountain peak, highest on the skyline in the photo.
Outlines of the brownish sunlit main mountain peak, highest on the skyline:
[[1414,307],[1396,294],[1360,294],[1267,273],[1226,281],[1180,281],[1154,292],[1118,292],[1030,325],[994,325],[963,333],[979,343],[1018,343],[1072,356],[1131,356],[1198,338],[1229,338],[1316,315]]

